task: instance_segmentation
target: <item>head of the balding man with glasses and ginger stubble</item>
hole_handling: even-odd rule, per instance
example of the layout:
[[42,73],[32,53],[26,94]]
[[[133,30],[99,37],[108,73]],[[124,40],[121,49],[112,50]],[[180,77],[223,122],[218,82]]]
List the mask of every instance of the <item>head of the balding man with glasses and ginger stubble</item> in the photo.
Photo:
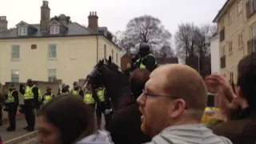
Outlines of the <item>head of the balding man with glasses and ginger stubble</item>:
[[167,126],[200,123],[206,107],[206,85],[196,70],[182,64],[158,67],[137,99],[142,131],[154,137]]

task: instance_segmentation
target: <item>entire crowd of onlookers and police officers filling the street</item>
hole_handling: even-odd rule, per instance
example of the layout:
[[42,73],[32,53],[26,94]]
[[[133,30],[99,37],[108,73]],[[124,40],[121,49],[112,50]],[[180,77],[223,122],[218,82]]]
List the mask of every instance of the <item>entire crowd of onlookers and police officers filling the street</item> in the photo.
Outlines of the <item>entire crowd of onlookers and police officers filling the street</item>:
[[[110,109],[111,99],[110,96],[106,96],[107,92],[105,94],[101,91],[102,94],[99,94],[90,88],[91,85],[87,85],[86,91],[71,93],[65,91],[68,91],[68,86],[63,86],[62,96],[41,98],[44,104],[40,107],[38,115],[38,142],[45,144],[254,144],[256,142],[256,121],[254,121],[256,53],[238,62],[237,84],[231,86],[230,82],[220,74],[211,74],[203,79],[196,70],[183,64],[166,64],[157,67],[154,56],[149,53],[149,46],[145,43],[139,46],[141,57],[134,61],[134,65],[127,65],[129,70],[126,71],[130,75],[130,95],[133,101],[127,103],[126,109],[114,112],[106,130],[98,126],[94,112],[96,110],[96,115],[104,114],[106,109]],[[31,86],[29,82],[28,86]],[[77,83],[74,83],[74,86],[77,86]],[[33,99],[40,99],[40,94],[34,88],[26,87],[26,89],[22,89],[25,93],[22,93],[22,90],[20,92],[24,94],[27,110],[27,107],[31,106],[29,105],[32,101],[31,95]],[[102,90],[105,90],[104,86]],[[201,122],[209,92],[215,95],[214,105],[219,110],[214,116],[221,121],[213,126],[204,126]],[[10,89],[7,100],[17,106],[15,93],[15,90]],[[45,95],[50,96],[50,92]],[[100,113],[97,113],[97,109],[100,109]],[[34,120],[29,120],[30,117],[32,119],[30,116],[32,108],[26,110],[28,122],[26,129],[31,130],[34,129]],[[133,118],[130,117],[131,115]],[[10,113],[10,119],[12,117]],[[14,126],[11,123],[10,121],[10,126]]]

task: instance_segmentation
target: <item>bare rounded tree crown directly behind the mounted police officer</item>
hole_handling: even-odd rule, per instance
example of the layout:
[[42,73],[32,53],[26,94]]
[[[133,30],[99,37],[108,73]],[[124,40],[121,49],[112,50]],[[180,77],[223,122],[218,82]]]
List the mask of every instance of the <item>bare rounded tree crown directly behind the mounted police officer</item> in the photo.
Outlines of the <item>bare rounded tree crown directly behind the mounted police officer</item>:
[[170,45],[171,36],[158,18],[144,15],[128,22],[122,39],[118,42],[125,50],[130,50],[138,42],[146,42],[152,50],[156,50],[156,48],[162,47],[164,43]]

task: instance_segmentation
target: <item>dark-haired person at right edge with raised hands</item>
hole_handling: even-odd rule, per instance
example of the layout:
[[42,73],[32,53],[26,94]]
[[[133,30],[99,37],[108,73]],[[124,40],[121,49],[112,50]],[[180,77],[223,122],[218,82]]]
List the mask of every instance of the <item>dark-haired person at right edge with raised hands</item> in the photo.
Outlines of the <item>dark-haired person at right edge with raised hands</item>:
[[247,55],[238,62],[236,88],[232,88],[226,78],[218,74],[207,77],[206,83],[218,87],[220,108],[222,114],[229,120],[214,126],[214,133],[230,138],[234,144],[254,144],[256,142],[256,53]]

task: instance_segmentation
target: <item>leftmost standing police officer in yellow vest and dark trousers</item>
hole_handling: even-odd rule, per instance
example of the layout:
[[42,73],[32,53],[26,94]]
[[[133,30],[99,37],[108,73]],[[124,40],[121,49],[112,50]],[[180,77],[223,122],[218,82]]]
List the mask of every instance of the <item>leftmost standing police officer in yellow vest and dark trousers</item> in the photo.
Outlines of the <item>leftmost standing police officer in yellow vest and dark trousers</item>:
[[16,129],[16,114],[18,109],[18,91],[15,90],[14,84],[10,84],[6,104],[8,104],[8,118],[10,126],[7,131],[14,131]]

